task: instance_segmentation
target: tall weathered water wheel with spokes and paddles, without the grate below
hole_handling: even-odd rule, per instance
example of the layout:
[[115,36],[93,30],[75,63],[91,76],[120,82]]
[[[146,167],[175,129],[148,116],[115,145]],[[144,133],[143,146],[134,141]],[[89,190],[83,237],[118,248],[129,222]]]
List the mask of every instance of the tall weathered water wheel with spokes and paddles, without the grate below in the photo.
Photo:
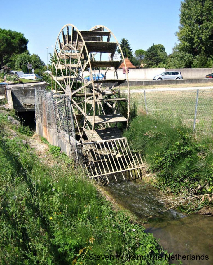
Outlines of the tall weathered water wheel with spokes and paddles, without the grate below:
[[[66,34],[64,31],[66,31]],[[71,34],[69,34],[69,32],[71,32]],[[113,36],[114,42],[111,42],[111,36]],[[104,41],[106,38],[107,41]],[[113,56],[117,48],[121,51],[120,62],[113,61]],[[109,52],[111,52],[110,60],[102,60],[102,53]],[[95,60],[97,54],[100,55],[99,61]],[[76,134],[79,135],[80,138],[79,141],[81,141],[85,134],[86,128],[90,130],[90,139],[92,140],[95,128],[98,126],[104,128],[106,125],[103,124],[107,124],[107,126],[110,127],[112,121],[116,124],[121,120],[126,122],[127,127],[130,111],[128,74],[126,74],[125,79],[118,79],[117,74],[117,69],[122,62],[125,64],[120,44],[107,27],[97,25],[92,27],[89,31],[79,31],[74,25],[66,24],[60,30],[53,54],[52,90],[54,90],[55,93],[62,92],[69,95]],[[99,65],[99,67],[97,67],[97,65]],[[113,68],[114,79],[96,80],[95,77],[95,80],[93,80],[92,73],[95,72],[96,75],[96,71],[92,72],[91,69],[94,66],[98,69],[96,70],[98,71],[98,78],[100,75],[100,68],[106,68],[104,77],[108,69]],[[86,70],[88,70],[90,77],[89,81],[86,81],[84,78],[84,72]],[[108,81],[110,84],[112,83],[112,85],[102,89],[102,84],[108,83]],[[127,82],[128,92],[127,98],[122,99],[120,98],[119,84],[125,81]],[[58,91],[58,88],[61,91]],[[117,90],[115,91],[114,88]],[[122,115],[119,114],[120,100],[127,102],[126,118],[122,118]],[[111,102],[116,102],[116,104]],[[109,115],[109,117],[107,117],[109,118],[108,120],[104,117],[106,121],[99,122],[98,118],[100,116],[101,118],[107,116],[104,106],[111,108],[113,113],[111,116]],[[112,116],[113,119],[110,121],[110,117]]]

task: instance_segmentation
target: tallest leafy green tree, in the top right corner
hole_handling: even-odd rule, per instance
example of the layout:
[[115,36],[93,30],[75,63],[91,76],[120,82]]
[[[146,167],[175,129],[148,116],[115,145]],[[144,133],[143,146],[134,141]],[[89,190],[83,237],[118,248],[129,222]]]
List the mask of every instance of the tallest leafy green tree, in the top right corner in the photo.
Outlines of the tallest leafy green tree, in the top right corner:
[[[212,0],[184,0],[180,8],[180,26],[176,32],[179,52],[213,55]],[[203,59],[202,59],[203,60]]]

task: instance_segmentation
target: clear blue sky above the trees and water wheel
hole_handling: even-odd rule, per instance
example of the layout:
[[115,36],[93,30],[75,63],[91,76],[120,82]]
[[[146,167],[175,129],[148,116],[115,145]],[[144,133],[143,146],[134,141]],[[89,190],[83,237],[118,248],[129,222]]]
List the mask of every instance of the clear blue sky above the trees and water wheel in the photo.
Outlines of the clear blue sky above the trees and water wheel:
[[[0,28],[22,32],[29,52],[47,63],[65,24],[79,30],[108,27],[120,42],[128,39],[133,53],[163,44],[167,54],[177,42],[181,0],[1,0]],[[48,59],[50,56],[48,54]]]

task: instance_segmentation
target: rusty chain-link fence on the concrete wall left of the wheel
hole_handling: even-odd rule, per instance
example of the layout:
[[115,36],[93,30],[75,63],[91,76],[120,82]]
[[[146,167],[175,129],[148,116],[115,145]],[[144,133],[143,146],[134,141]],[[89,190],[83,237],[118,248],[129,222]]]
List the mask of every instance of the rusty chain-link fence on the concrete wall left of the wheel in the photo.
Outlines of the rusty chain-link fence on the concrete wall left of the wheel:
[[35,108],[37,133],[76,158],[77,145],[69,97],[36,88]]

